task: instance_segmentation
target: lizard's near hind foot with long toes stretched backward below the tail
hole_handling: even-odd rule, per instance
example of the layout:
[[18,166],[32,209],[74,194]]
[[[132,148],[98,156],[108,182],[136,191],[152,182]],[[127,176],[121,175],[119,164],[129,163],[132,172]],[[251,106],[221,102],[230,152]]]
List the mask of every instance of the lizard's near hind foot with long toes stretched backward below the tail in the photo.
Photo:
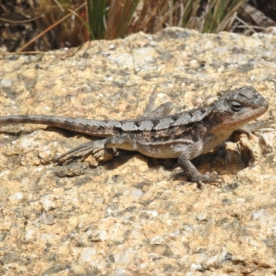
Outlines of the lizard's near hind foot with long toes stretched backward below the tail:
[[75,157],[86,157],[90,154],[95,155],[99,150],[104,150],[106,144],[106,139],[96,140],[92,142],[88,142],[85,144],[81,144],[77,148],[72,148],[68,152],[63,153],[59,157],[55,159],[55,162],[59,162],[62,159],[72,159]]

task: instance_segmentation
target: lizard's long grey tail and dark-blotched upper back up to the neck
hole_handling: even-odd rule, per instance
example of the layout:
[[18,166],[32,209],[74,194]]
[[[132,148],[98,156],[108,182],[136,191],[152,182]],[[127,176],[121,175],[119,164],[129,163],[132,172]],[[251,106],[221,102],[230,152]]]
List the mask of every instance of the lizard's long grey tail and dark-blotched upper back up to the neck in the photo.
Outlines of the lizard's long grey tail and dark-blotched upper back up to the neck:
[[166,117],[134,120],[94,120],[48,115],[14,115],[0,117],[0,124],[44,124],[84,133],[95,137],[110,137],[127,132],[164,130],[201,121],[211,112],[210,108],[197,108]]

